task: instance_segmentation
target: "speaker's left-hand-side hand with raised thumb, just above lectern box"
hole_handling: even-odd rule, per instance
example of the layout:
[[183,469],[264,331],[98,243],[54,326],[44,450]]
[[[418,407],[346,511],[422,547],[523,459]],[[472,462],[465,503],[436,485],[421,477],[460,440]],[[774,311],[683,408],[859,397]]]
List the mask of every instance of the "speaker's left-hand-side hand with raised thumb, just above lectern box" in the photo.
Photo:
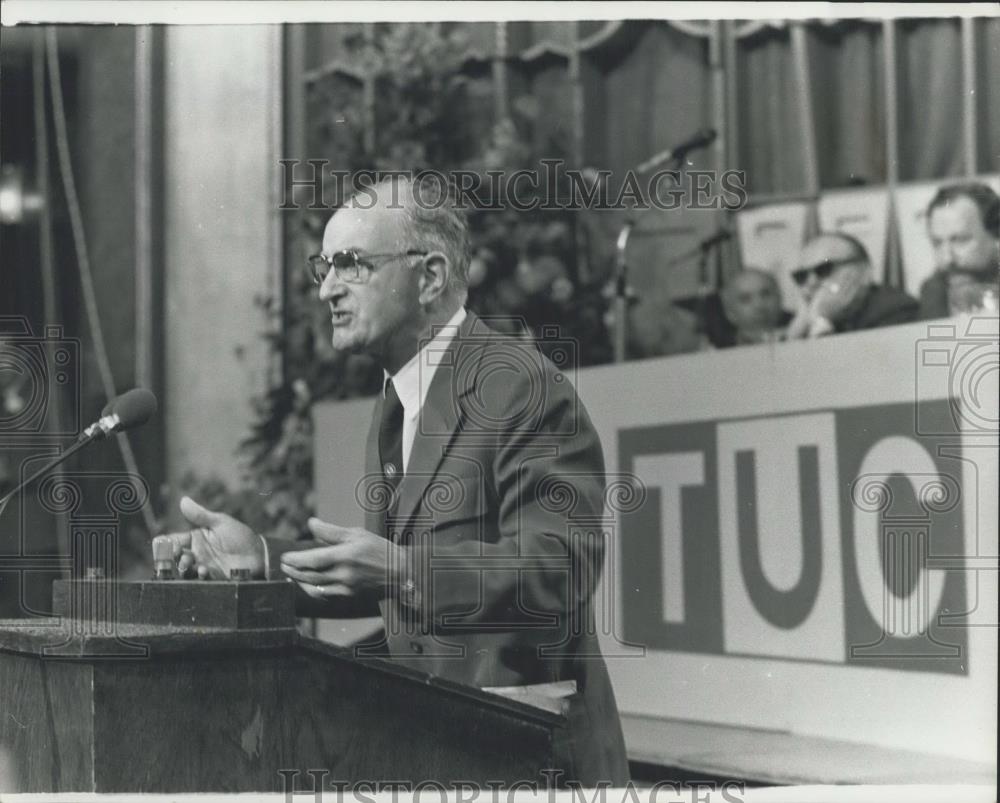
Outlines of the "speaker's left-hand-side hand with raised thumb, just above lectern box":
[[194,529],[170,533],[181,576],[197,568],[202,579],[228,580],[230,569],[249,569],[264,576],[264,545],[253,530],[225,513],[181,499],[181,513]]

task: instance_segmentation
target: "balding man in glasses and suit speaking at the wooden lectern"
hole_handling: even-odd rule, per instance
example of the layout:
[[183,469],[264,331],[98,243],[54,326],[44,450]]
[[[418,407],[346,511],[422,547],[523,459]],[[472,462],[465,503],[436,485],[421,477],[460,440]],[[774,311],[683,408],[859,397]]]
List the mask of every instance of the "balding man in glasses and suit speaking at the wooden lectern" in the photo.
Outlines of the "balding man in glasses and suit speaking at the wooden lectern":
[[624,741],[592,610],[601,444],[533,343],[466,312],[468,265],[468,226],[440,180],[395,177],[333,215],[310,259],[333,346],[385,371],[358,485],[365,528],[311,519],[312,539],[290,542],[185,498],[194,529],[171,536],[178,568],[290,578],[303,616],[380,613],[383,653],[459,683],[575,683],[554,769],[620,786]]

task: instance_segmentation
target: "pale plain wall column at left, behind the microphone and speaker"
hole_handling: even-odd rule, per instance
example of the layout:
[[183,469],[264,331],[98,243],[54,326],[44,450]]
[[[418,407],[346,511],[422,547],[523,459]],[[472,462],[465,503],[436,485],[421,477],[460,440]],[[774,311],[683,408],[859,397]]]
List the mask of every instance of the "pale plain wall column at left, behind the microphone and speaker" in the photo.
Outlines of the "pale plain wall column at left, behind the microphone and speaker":
[[170,27],[165,84],[167,476],[232,481],[281,287],[281,29]]

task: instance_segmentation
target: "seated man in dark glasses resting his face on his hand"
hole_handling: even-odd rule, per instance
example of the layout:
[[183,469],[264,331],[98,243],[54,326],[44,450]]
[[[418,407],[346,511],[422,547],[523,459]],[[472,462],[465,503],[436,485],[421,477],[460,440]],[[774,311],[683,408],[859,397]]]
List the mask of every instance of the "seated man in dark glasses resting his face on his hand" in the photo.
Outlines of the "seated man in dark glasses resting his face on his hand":
[[788,339],[874,329],[917,319],[919,305],[902,290],[872,282],[865,247],[848,234],[830,232],[809,240],[792,278],[802,305]]

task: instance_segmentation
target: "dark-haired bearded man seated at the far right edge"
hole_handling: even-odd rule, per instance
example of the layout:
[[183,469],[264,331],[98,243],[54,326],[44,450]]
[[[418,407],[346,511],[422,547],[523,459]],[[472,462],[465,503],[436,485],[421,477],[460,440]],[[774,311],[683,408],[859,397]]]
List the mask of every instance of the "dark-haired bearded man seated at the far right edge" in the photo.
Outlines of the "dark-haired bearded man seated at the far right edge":
[[927,206],[936,272],[920,287],[920,317],[997,311],[1000,196],[985,184],[942,187]]

